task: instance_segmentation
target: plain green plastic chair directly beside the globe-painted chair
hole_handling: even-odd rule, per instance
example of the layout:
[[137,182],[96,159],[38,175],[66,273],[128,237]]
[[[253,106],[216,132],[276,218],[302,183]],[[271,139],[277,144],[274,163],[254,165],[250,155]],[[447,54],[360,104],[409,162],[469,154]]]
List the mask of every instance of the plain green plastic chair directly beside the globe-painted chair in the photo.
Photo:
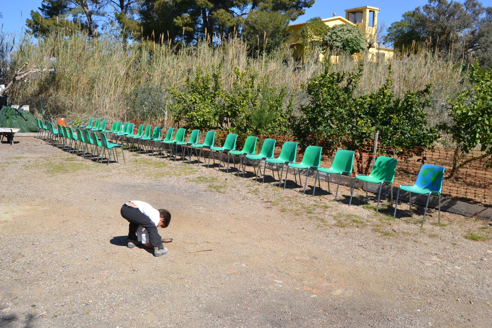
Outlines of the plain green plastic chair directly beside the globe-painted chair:
[[380,183],[379,196],[377,197],[376,213],[379,210],[379,200],[381,199],[381,188],[384,184],[389,184],[391,189],[391,207],[393,207],[393,181],[395,181],[395,170],[397,168],[397,159],[386,156],[379,156],[376,158],[372,170],[369,176],[365,174],[358,174],[354,178],[354,185],[352,186],[352,192],[350,193],[350,202],[348,205],[352,205],[352,196],[354,194],[355,181],[361,180],[366,182],[366,202],[368,202],[368,182]]

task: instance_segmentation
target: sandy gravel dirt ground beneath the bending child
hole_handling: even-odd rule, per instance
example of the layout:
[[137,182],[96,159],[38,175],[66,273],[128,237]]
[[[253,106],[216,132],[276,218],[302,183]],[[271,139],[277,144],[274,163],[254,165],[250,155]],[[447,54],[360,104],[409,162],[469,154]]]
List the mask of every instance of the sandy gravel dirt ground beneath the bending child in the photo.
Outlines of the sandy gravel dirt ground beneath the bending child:
[[[107,167],[15,141],[0,145],[0,327],[492,326],[488,222],[431,210],[421,229],[422,207],[394,220],[326,182],[307,197],[292,175],[283,190],[271,172],[126,150]],[[168,254],[126,247],[129,200],[170,210]]]

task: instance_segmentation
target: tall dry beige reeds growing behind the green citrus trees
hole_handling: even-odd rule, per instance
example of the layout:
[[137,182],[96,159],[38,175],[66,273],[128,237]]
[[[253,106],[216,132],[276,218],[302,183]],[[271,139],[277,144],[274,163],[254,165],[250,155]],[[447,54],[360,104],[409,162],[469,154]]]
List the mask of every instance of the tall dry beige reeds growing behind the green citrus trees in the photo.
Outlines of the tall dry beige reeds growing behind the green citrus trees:
[[[234,67],[241,71],[252,69],[258,73],[257,81],[269,75],[274,85],[287,85],[295,92],[295,103],[308,101],[300,89],[303,82],[321,71],[316,56],[307,57],[303,64],[294,60],[288,48],[263,57],[251,58],[246,44],[238,39],[223,40],[219,47],[199,42],[176,50],[174,45],[151,42],[133,43],[124,49],[123,44],[110,36],[88,40],[83,35],[57,35],[44,39],[24,36],[17,42],[12,54],[15,64],[29,62],[40,69],[25,83],[10,92],[15,103],[33,103],[43,100],[47,116],[75,117],[126,117],[125,94],[139,85],[157,85],[163,90],[184,85],[184,81],[200,66],[212,69],[222,64],[221,78],[224,89],[231,89]],[[423,89],[429,81],[434,85],[431,124],[446,117],[446,94],[463,88],[463,73],[451,62],[425,53],[400,59],[372,62],[361,56],[364,76],[358,92],[376,90],[384,83],[391,65],[393,90],[402,96],[406,90]],[[357,63],[350,57],[340,57],[335,70],[354,71]],[[162,109],[162,117],[166,108]]]

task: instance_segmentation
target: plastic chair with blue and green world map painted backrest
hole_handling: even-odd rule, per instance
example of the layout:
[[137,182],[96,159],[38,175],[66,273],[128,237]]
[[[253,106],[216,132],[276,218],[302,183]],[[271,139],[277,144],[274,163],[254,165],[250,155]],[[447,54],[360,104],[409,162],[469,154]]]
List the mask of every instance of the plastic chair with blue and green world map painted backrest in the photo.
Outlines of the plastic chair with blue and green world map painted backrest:
[[395,214],[393,218],[397,216],[397,207],[398,207],[398,197],[400,196],[400,189],[404,191],[408,191],[408,203],[410,206],[410,216],[412,215],[412,192],[417,194],[428,194],[427,196],[427,204],[426,209],[424,210],[424,217],[422,218],[422,224],[420,227],[424,226],[424,221],[426,220],[427,208],[429,206],[429,199],[431,195],[439,196],[439,214],[438,214],[438,223],[441,223],[441,191],[442,191],[442,179],[444,178],[444,167],[433,165],[433,164],[424,164],[420,167],[419,174],[415,183],[411,186],[409,184],[400,184],[398,187],[397,200],[395,202]]

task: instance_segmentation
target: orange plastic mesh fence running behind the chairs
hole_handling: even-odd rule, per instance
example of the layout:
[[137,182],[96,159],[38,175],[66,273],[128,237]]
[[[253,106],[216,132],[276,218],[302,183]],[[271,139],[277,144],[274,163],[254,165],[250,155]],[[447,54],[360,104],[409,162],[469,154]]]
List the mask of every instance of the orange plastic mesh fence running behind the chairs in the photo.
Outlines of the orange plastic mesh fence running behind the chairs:
[[[138,124],[142,122],[130,120],[135,123],[135,132]],[[169,127],[175,127],[176,123],[172,120],[153,121],[150,124],[162,126],[161,136]],[[215,130],[215,145],[222,146],[228,132]],[[199,135],[198,142],[203,143],[206,131]],[[189,135],[186,135],[186,140]],[[236,149],[242,149],[246,140],[246,135],[238,136]],[[256,152],[261,149],[260,139],[276,139],[275,156],[280,154],[280,149],[286,141],[296,141],[292,136],[279,135],[258,135]],[[323,147],[321,166],[330,167],[337,149],[350,149],[355,151],[355,160],[352,176],[357,174],[369,174],[372,167],[374,155],[390,156],[398,158],[395,175],[395,186],[400,184],[413,184],[417,178],[422,164],[436,164],[444,166],[444,181],[442,186],[443,197],[460,200],[467,203],[492,206],[492,156],[490,153],[480,150],[471,150],[464,153],[461,149],[435,147],[433,149],[397,149],[393,147],[381,146],[378,143],[374,154],[374,142],[364,140],[362,146],[355,147],[349,141],[343,141],[341,145],[334,146],[333,142],[323,141],[316,136],[311,136],[311,144]],[[297,161],[301,161],[304,149],[298,148]]]

